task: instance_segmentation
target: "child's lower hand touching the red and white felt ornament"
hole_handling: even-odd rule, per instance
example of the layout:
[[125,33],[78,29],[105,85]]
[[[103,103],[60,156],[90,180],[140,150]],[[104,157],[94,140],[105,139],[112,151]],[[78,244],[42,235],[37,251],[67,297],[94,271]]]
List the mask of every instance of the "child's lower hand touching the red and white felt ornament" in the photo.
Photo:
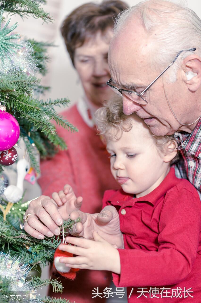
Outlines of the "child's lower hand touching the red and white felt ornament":
[[119,252],[113,245],[93,231],[93,240],[66,237],[66,242],[77,245],[60,244],[59,249],[68,251],[77,257],[61,257],[59,261],[70,268],[93,270],[109,270],[117,274],[121,272]]

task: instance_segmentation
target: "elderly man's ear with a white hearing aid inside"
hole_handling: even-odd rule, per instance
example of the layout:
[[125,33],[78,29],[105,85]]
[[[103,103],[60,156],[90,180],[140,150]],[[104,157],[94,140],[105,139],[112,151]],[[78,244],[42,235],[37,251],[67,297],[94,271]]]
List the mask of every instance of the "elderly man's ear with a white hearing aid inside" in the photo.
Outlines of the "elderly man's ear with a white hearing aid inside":
[[190,91],[196,92],[201,85],[201,58],[197,55],[186,57],[183,59],[182,68],[183,82]]

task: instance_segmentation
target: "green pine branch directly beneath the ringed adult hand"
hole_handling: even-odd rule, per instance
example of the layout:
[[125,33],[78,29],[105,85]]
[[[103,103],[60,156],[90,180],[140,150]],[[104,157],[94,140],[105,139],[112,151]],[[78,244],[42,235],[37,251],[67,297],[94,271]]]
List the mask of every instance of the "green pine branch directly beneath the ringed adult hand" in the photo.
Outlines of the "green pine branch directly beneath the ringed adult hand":
[[[17,208],[19,207],[20,205]],[[21,217],[21,214],[22,212],[19,212],[19,217]],[[21,220],[13,218],[12,212],[7,216],[8,220],[3,222],[3,217],[0,214],[0,250],[5,253],[10,251],[12,256],[19,256],[22,262],[32,266],[52,262],[55,249],[61,243],[61,238],[57,236],[45,237],[43,240],[33,238],[19,229]],[[79,221],[79,218],[64,221],[64,233],[67,228],[71,230],[72,225]],[[62,231],[62,226],[60,226],[60,229]]]

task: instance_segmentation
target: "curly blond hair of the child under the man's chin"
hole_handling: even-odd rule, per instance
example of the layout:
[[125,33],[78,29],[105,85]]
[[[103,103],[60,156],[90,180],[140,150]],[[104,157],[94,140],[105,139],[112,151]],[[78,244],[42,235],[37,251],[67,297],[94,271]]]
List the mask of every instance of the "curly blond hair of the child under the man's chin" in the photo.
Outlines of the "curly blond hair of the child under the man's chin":
[[[135,113],[131,115],[125,115],[123,112],[122,98],[116,97],[114,100],[104,102],[104,106],[99,108],[96,113],[96,126],[99,135],[104,135],[105,138],[116,140],[120,139],[123,132],[129,132],[133,126],[133,118],[136,117],[137,123],[141,120],[145,124],[142,118],[139,118]],[[148,127],[148,126],[147,126]],[[155,139],[158,147],[163,150],[163,147],[168,143],[174,143],[174,135],[156,136],[150,131],[150,135]],[[178,153],[172,159],[171,164],[178,160]]]

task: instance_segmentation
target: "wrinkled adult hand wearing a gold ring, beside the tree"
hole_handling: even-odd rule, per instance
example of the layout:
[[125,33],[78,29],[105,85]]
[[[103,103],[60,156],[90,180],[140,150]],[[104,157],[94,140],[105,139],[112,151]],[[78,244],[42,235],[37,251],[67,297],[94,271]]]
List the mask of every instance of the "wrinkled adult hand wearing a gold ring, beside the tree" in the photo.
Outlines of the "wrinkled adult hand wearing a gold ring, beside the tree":
[[59,226],[62,225],[63,220],[68,219],[72,211],[79,210],[81,207],[82,198],[75,198],[69,199],[60,208],[53,199],[47,196],[32,200],[25,213],[25,215],[31,215],[28,216],[27,223],[24,223],[24,230],[37,239],[59,235]]

